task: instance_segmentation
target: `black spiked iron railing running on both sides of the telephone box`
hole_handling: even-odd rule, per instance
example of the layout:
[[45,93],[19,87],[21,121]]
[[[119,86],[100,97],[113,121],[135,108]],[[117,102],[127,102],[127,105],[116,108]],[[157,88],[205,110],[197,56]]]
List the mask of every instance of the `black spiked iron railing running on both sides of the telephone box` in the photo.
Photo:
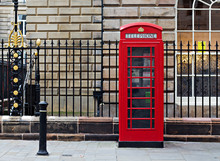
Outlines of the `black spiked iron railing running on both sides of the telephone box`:
[[[165,117],[219,117],[218,43],[199,43],[164,43]],[[1,114],[9,114],[11,108],[10,50],[1,45]],[[40,99],[48,102],[52,116],[118,116],[117,41],[45,40],[39,47],[30,41],[19,50],[27,55],[21,78],[26,87],[22,87],[24,115],[36,114]]]

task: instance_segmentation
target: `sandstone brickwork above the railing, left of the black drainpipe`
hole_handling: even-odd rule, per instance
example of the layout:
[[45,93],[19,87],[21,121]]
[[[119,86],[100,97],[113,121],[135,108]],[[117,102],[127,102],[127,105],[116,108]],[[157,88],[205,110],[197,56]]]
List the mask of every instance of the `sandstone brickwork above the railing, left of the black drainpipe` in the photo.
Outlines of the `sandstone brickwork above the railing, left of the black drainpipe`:
[[28,0],[28,39],[97,39],[101,8],[91,0]]

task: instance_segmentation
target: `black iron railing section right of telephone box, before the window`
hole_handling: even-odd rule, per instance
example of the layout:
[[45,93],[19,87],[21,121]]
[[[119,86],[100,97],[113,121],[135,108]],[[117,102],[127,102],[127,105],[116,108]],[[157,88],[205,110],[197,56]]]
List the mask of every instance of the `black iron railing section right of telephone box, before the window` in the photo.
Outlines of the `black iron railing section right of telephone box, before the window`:
[[[183,45],[185,44],[185,45]],[[219,117],[219,49],[209,42],[165,43],[165,117]],[[173,65],[169,65],[173,61]],[[170,70],[170,71],[169,71]],[[173,75],[169,76],[172,71]],[[174,83],[172,83],[172,81]],[[172,89],[169,83],[173,84]],[[173,95],[170,100],[170,96]]]

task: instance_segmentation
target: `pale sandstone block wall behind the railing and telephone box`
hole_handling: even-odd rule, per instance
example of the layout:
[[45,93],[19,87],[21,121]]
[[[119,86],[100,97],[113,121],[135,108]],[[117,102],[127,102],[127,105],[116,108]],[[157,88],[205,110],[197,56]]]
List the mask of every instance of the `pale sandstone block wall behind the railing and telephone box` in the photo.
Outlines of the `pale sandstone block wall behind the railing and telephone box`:
[[[122,25],[133,23],[133,22],[149,22],[160,25],[164,28],[163,31],[163,40],[164,41],[173,41],[175,39],[175,0],[104,0],[104,33],[103,38],[106,44],[104,45],[104,49],[108,49],[109,45],[107,44],[108,40],[112,42],[115,40],[119,40],[119,28]],[[50,41],[54,40],[54,46],[57,46],[57,40],[60,39],[62,45],[65,45],[64,40],[68,40],[68,45],[72,44],[71,40],[75,40],[75,42],[79,43],[78,40],[82,40],[84,46],[86,45],[86,40],[90,41],[90,47],[93,47],[92,40],[100,40],[101,39],[101,0],[28,0],[27,1],[27,39],[36,40],[40,38],[42,40],[47,40],[47,45],[51,45]],[[100,45],[98,42],[97,44]],[[43,44],[42,44],[43,45]],[[116,45],[113,43],[110,45],[112,49],[116,48]],[[118,46],[117,46],[118,47]],[[79,53],[79,51],[76,51]],[[94,52],[93,52],[94,53]],[[92,52],[89,53],[89,57],[93,59],[94,54]],[[97,51],[100,54],[100,51]],[[118,95],[116,95],[116,91],[118,91],[118,83],[116,84],[116,75],[118,76],[118,52],[116,50],[104,50],[104,69],[103,69],[103,89],[104,89],[104,102],[118,102]],[[46,69],[46,83],[41,81],[41,87],[46,88],[47,92],[47,101],[51,102],[50,91],[51,90],[51,51],[46,52],[47,64],[46,68],[44,68],[43,63],[45,52],[41,50],[40,53],[40,63],[41,63],[41,78],[44,79],[44,69]],[[86,51],[83,53],[83,60],[87,59]],[[68,80],[67,80],[67,93],[68,94],[68,108],[72,109],[72,100],[71,93],[73,93],[73,64],[71,60],[73,59],[73,55],[71,51],[68,51],[68,61],[69,63],[65,63],[65,55],[66,51],[61,50],[61,105],[62,109],[65,110],[65,87],[66,87],[66,74],[65,68],[67,66],[68,69]],[[58,60],[59,58],[58,52],[56,51],[54,55],[54,69],[58,68]],[[77,55],[79,56],[79,54]],[[77,57],[76,56],[76,57]],[[117,57],[117,58],[116,58]],[[89,60],[90,60],[89,58]],[[110,59],[110,61],[109,61]],[[93,59],[94,60],[94,59]],[[94,61],[89,61],[88,66],[89,70],[87,70],[86,62],[83,63],[85,66],[83,70],[84,79],[87,78],[87,72],[91,75],[94,75],[94,72],[97,72],[97,79],[100,79],[100,55],[97,59],[98,71],[94,70]],[[168,76],[169,89],[173,89],[174,87],[174,75],[173,75],[173,54],[168,53]],[[165,59],[166,63],[166,59]],[[78,67],[80,61],[77,60],[75,66]],[[166,64],[165,64],[166,65]],[[110,71],[109,71],[110,70]],[[117,71],[117,73],[116,73]],[[79,70],[74,72],[75,84],[79,84]],[[110,73],[110,74],[109,74]],[[109,78],[110,76],[110,78]],[[166,70],[165,70],[166,76]],[[90,105],[91,110],[94,110],[93,104],[93,96],[92,91],[94,90],[94,84],[97,82],[94,81],[94,77],[89,77],[89,95],[90,95]],[[109,83],[110,82],[110,83]],[[100,85],[100,83],[98,83]],[[57,92],[58,86],[58,72],[54,73],[54,93]],[[82,85],[82,90],[87,93],[87,82],[84,81]],[[166,87],[166,86],[165,86]],[[76,92],[76,100],[79,98],[81,94],[79,94],[79,86],[75,88]],[[109,92],[110,91],[110,92]],[[169,101],[173,100],[173,91],[169,90]],[[77,94],[76,94],[77,93]],[[44,90],[42,90],[41,94],[44,94]],[[58,97],[54,97],[54,105],[57,106]],[[86,97],[83,100],[86,100]],[[77,102],[77,101],[75,101]],[[50,104],[49,104],[50,105]],[[79,104],[75,104],[78,108]],[[84,108],[86,109],[87,104],[84,104]],[[104,105],[104,113],[109,114],[109,109],[111,110],[111,116],[115,116],[116,114],[116,105],[111,104],[109,108],[109,104]],[[57,107],[56,107],[57,109]],[[107,116],[106,115],[106,116]]]

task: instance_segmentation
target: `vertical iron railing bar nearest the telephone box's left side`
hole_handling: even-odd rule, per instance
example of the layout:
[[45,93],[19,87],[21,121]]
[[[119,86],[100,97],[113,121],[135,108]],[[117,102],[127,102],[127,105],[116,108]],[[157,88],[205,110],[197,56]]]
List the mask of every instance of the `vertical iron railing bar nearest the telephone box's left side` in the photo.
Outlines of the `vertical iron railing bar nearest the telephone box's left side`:
[[115,62],[115,65],[116,65],[116,81],[115,81],[115,84],[116,84],[116,93],[115,93],[115,100],[116,100],[116,104],[115,104],[115,114],[116,114],[116,116],[115,117],[118,117],[118,108],[117,108],[117,106],[118,106],[118,55],[117,55],[117,53],[118,53],[118,41],[116,40],[116,46],[115,46],[115,52],[116,52],[116,62]]

